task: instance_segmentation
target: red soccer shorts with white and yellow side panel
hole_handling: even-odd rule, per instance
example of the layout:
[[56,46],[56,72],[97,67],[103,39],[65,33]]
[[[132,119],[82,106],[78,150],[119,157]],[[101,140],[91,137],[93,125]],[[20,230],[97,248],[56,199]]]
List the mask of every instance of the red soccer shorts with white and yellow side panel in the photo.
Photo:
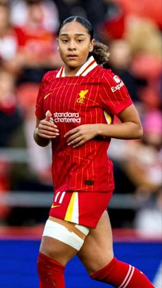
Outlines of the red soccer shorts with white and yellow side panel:
[[113,191],[56,192],[49,211],[51,217],[95,228],[107,209]]

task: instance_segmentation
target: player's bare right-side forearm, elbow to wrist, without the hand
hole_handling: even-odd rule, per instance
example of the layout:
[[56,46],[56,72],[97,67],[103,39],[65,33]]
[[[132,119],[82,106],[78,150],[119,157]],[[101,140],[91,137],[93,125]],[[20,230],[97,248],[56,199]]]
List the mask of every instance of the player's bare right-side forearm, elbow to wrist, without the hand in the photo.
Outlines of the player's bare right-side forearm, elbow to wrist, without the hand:
[[97,124],[97,135],[116,139],[139,139],[143,135],[143,129],[141,124],[135,122]]

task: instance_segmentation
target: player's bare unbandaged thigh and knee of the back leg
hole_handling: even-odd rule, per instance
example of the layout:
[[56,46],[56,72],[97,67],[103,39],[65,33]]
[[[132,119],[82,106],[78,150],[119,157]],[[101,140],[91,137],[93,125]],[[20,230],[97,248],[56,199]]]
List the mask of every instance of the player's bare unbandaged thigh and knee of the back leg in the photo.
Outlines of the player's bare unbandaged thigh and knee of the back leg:
[[113,236],[108,213],[104,211],[95,229],[91,229],[78,252],[89,274],[108,265],[113,259]]

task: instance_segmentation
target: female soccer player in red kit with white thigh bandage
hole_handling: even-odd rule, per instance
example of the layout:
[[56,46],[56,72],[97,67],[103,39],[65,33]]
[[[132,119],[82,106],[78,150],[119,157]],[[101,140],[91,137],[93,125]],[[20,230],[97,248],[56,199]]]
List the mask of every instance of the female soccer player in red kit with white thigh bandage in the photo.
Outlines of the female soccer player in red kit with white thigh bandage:
[[[65,19],[58,50],[64,66],[45,74],[36,101],[34,140],[40,146],[51,142],[54,179],[38,255],[40,288],[64,288],[65,265],[76,254],[95,280],[120,288],[153,287],[113,255],[106,211],[114,189],[107,157],[111,137],[141,137],[139,115],[124,82],[102,68],[108,48],[95,43],[89,21]],[[114,115],[119,124],[113,124]]]

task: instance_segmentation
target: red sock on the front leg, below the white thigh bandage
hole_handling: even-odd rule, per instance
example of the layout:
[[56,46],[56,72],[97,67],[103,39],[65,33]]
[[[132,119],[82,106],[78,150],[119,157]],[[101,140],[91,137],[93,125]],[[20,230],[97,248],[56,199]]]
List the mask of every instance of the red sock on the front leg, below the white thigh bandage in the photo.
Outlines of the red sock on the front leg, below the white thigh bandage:
[[65,266],[44,254],[38,254],[39,288],[65,288]]

